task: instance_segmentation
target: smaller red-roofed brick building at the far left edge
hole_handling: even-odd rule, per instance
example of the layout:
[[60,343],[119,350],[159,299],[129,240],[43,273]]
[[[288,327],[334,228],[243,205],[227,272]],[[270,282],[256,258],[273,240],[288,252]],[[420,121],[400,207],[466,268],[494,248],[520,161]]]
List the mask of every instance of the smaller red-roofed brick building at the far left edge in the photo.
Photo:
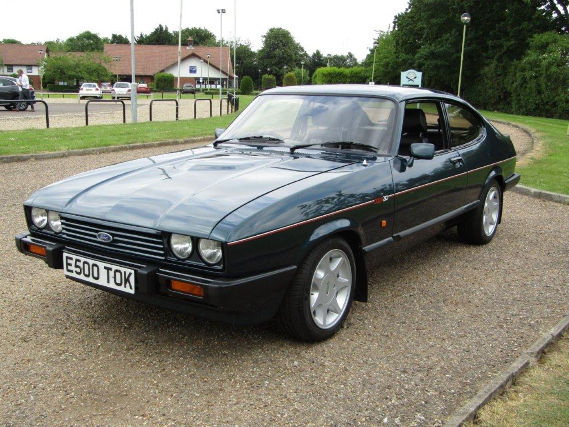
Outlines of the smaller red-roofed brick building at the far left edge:
[[47,47],[44,44],[0,43],[0,58],[3,62],[3,66],[0,66],[0,75],[9,76],[22,69],[30,77],[30,84],[40,89],[42,87],[40,64],[47,55]]

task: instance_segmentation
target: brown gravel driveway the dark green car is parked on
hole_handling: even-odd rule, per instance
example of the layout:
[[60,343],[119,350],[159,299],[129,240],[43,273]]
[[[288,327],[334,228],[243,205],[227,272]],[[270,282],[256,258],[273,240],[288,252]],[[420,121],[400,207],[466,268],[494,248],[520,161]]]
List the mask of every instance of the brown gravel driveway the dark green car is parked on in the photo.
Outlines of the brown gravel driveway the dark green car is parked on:
[[372,268],[370,302],[319,344],[129,301],[17,252],[31,192],[167,149],[0,165],[2,427],[439,425],[567,310],[569,207],[513,192],[492,243],[451,230]]

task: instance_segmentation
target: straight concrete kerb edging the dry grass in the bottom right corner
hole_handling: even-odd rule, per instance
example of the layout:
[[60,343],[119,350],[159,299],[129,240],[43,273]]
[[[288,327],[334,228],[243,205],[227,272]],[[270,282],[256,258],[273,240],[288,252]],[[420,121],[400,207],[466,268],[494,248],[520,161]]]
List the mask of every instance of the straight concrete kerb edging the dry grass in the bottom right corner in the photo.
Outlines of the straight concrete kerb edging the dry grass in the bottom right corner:
[[459,409],[459,411],[444,424],[444,427],[460,427],[465,422],[472,421],[476,413],[494,397],[504,393],[520,373],[539,360],[547,347],[569,330],[569,311],[547,334],[539,338],[528,348],[508,369],[497,375],[480,393]]

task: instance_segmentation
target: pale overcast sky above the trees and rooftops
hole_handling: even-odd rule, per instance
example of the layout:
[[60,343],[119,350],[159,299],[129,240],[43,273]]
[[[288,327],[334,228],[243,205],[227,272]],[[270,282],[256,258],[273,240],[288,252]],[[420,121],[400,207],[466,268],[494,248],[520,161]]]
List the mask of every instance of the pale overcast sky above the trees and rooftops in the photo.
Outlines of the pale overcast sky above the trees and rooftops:
[[[283,27],[308,54],[316,49],[324,55],[352,52],[358,60],[365,58],[372,46],[374,30],[387,30],[394,15],[407,5],[407,0],[236,0],[236,15],[234,0],[183,1],[183,28],[205,27],[218,36],[220,19],[216,9],[224,8],[224,38],[233,37],[237,17],[237,37],[249,39],[254,50],[262,46],[261,36],[269,28]],[[19,12],[14,19],[2,19],[0,40],[64,40],[85,30],[108,37],[114,32],[130,39],[129,0],[28,0],[25,6],[18,4],[14,11],[24,7],[30,13],[24,14],[24,19]],[[178,30],[179,19],[179,0],[134,0],[135,35],[149,33],[158,24]],[[22,26],[26,26],[25,31],[19,29]]]

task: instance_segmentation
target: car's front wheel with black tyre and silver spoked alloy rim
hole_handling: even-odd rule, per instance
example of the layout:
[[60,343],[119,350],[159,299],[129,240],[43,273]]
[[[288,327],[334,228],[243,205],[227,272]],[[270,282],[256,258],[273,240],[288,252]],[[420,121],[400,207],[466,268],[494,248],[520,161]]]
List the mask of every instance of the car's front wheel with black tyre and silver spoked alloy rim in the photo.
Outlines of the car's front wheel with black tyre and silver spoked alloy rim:
[[[321,286],[325,281],[326,288],[321,288],[322,299],[341,301],[341,307],[340,304],[337,304],[340,310],[336,310],[340,313],[329,310],[329,306],[323,308],[325,303],[318,305],[320,308],[316,307],[314,311],[311,308],[312,302],[316,305],[319,301],[318,292],[315,296],[315,289],[312,284],[313,276],[315,276],[316,268],[321,261],[324,262],[328,256],[328,262],[330,260],[340,261],[337,261],[339,264],[336,264],[338,270],[333,273],[329,270],[329,274],[323,275]],[[347,289],[347,281],[345,280],[348,277],[348,270],[349,289]],[[338,276],[334,277],[336,272]],[[296,275],[284,293],[283,301],[277,313],[279,326],[287,335],[295,339],[309,342],[327,339],[342,326],[352,304],[355,288],[356,263],[352,249],[345,240],[339,237],[325,240],[307,254],[296,270]],[[328,304],[331,302],[328,301]],[[317,323],[315,317],[320,316],[323,317],[324,322],[327,322],[327,318],[330,317],[329,325]]]

